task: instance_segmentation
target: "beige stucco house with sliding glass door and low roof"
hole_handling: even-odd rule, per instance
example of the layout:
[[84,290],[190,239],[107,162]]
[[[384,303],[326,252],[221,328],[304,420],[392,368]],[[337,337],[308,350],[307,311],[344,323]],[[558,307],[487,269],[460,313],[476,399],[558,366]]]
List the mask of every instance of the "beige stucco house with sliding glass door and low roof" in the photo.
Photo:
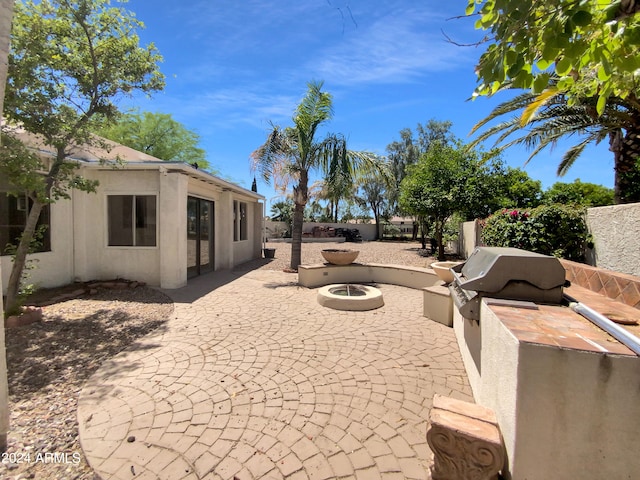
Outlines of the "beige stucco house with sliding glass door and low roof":
[[[51,149],[24,134],[44,159]],[[116,165],[115,160],[124,161]],[[105,162],[105,160],[107,160]],[[166,162],[109,142],[69,155],[79,173],[100,182],[96,193],[72,191],[45,208],[48,226],[30,283],[126,278],[178,288],[203,273],[229,269],[262,255],[264,197],[191,165]],[[7,195],[0,178],[2,284],[11,271],[5,245],[26,220],[28,200]],[[6,290],[5,290],[6,291]]]

